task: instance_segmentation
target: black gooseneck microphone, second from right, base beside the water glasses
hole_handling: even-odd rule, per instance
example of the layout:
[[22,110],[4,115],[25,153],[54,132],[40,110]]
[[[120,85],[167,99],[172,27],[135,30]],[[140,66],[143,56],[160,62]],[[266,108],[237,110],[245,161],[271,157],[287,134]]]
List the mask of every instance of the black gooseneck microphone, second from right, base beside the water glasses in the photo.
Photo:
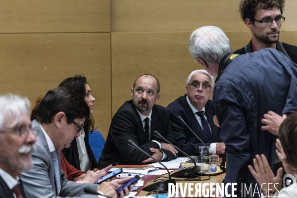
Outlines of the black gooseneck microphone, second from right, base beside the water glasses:
[[164,140],[165,142],[167,142],[169,145],[172,145],[174,148],[176,148],[178,151],[180,151],[181,153],[183,153],[184,155],[186,155],[187,157],[189,157],[190,159],[192,159],[194,161],[194,166],[189,167],[189,168],[185,168],[182,170],[179,170],[175,173],[173,173],[171,176],[172,177],[181,177],[181,178],[195,178],[198,177],[198,173],[200,173],[200,166],[197,166],[196,161],[187,153],[185,153],[184,151],[182,151],[181,149],[177,148],[176,146],[174,146],[172,143],[170,143],[168,140],[166,140],[159,132],[154,131],[153,135]]

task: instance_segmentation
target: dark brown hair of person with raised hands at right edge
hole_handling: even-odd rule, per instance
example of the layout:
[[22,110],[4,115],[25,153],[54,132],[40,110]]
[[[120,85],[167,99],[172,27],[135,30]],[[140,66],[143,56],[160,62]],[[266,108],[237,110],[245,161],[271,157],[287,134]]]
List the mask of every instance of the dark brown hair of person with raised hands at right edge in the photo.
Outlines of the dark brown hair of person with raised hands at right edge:
[[287,155],[286,162],[297,166],[297,112],[289,115],[280,126],[279,139]]

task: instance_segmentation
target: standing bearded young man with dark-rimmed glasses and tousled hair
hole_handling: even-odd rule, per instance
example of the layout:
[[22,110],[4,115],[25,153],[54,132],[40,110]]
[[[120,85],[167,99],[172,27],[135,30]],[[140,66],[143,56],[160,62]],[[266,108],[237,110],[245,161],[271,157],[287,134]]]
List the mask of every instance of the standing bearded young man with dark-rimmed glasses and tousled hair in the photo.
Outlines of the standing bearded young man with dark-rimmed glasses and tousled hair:
[[247,46],[234,53],[245,54],[273,48],[297,63],[297,47],[279,41],[280,29],[286,19],[282,15],[284,5],[285,0],[242,0],[239,10],[252,37]]

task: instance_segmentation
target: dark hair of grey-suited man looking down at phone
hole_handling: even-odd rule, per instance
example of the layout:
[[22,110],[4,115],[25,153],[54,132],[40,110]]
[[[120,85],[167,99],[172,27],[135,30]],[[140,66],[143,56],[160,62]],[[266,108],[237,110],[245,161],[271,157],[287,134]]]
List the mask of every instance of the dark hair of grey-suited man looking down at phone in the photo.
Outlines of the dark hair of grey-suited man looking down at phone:
[[54,115],[60,111],[66,114],[68,124],[72,122],[71,119],[90,116],[90,107],[78,93],[66,87],[57,87],[49,90],[40,102],[36,120],[49,124]]

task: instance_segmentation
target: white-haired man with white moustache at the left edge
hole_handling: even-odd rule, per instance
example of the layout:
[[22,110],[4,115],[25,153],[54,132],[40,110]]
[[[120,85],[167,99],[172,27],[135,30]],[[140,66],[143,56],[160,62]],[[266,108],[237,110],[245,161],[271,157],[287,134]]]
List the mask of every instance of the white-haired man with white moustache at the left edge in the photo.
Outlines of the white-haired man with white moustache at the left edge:
[[32,167],[31,152],[36,133],[31,130],[29,114],[27,98],[11,94],[0,96],[1,198],[27,198],[18,176]]

